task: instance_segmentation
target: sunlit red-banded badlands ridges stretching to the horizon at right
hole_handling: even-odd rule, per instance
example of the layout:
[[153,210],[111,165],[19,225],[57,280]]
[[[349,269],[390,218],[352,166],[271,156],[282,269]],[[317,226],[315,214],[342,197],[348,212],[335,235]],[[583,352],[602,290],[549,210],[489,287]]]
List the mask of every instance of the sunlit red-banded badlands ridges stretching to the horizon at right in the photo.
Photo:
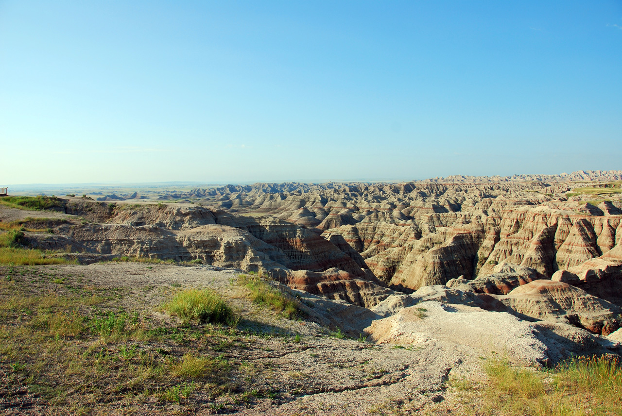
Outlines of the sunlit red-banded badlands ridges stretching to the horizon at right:
[[[534,276],[587,268],[601,271],[577,273],[596,273],[598,282],[610,283],[578,278],[580,287],[619,302],[622,201],[619,184],[605,181],[621,178],[621,171],[580,171],[402,184],[254,184],[195,189],[193,195],[228,212],[270,215],[322,233],[394,289],[480,278],[471,283],[480,285],[476,290],[506,294]],[[591,188],[582,194],[585,187]],[[590,266],[594,259],[608,262],[606,272],[605,266]],[[537,274],[530,271],[519,279],[515,273],[514,283],[482,283],[504,263]],[[603,286],[608,289],[598,289]]]

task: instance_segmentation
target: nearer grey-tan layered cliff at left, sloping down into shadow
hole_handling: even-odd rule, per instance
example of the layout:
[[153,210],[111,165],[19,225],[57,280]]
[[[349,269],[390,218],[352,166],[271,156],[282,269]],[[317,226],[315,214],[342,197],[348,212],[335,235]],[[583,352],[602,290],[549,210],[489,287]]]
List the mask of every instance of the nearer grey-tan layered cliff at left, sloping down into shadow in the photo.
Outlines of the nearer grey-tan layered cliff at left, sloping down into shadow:
[[96,222],[58,222],[53,235],[27,233],[31,246],[261,271],[295,289],[363,307],[392,293],[341,235],[326,239],[274,217],[166,204],[72,201],[66,206]]

